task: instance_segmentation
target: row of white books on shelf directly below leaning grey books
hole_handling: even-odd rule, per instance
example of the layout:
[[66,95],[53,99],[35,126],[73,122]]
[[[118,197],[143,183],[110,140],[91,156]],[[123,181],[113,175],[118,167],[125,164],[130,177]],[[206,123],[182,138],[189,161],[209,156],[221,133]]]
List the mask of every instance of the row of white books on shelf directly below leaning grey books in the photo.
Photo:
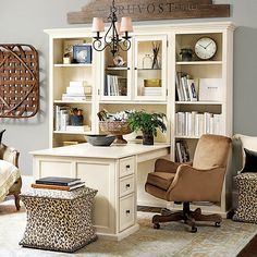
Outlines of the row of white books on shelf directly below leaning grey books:
[[209,112],[175,113],[175,134],[178,136],[200,136],[203,134],[223,134],[222,115]]

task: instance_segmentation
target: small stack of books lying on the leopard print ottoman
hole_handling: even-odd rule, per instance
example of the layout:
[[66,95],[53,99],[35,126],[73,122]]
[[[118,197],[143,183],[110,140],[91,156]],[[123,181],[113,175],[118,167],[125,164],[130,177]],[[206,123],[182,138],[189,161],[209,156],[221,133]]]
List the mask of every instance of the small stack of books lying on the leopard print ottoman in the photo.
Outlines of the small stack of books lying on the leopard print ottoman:
[[36,180],[35,184],[32,184],[34,188],[44,189],[58,189],[58,191],[73,191],[85,186],[85,182],[81,179],[70,179],[70,178],[57,178],[47,176]]

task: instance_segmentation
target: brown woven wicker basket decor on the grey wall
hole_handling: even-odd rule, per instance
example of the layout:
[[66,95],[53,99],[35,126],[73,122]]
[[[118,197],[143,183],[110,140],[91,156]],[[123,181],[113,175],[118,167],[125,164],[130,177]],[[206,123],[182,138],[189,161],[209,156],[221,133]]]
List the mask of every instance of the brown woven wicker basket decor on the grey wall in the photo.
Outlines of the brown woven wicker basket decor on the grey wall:
[[29,45],[0,45],[0,118],[29,118],[39,108],[38,53]]

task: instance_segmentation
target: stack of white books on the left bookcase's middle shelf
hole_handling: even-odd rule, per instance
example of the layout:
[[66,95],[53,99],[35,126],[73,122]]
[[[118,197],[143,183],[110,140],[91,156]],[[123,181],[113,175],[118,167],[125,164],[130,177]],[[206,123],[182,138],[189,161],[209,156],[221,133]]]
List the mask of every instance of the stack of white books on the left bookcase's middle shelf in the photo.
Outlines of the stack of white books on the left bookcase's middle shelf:
[[63,101],[85,101],[91,95],[91,87],[85,82],[70,82],[66,93],[62,94]]

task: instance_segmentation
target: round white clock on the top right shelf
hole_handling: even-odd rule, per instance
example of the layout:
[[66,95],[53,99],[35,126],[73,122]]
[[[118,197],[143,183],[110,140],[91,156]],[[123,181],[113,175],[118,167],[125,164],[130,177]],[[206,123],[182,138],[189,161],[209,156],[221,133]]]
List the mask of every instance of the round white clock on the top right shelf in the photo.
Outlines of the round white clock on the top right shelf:
[[213,39],[203,37],[195,44],[195,54],[203,59],[208,60],[216,54],[217,45]]

